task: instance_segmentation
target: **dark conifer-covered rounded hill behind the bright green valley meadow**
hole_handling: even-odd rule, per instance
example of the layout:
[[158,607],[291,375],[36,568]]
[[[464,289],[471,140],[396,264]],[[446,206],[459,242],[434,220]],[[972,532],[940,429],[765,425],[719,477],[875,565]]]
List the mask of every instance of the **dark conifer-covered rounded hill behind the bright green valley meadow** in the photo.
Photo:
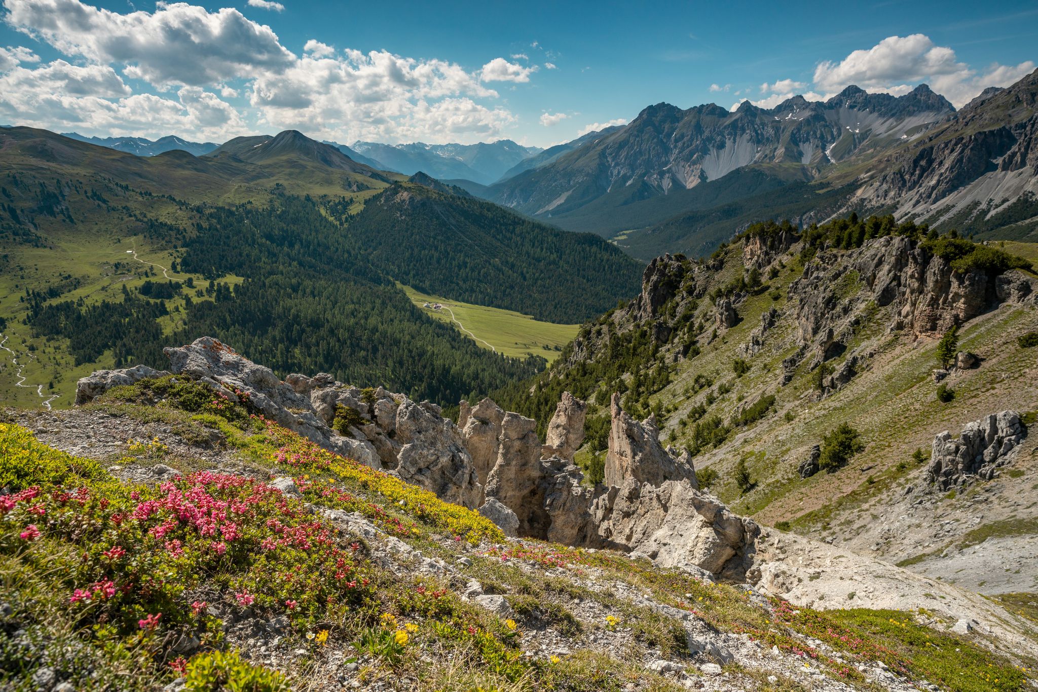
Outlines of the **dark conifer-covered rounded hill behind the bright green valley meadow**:
[[438,187],[394,185],[349,222],[373,264],[398,281],[565,324],[637,293],[640,264],[601,238]]

